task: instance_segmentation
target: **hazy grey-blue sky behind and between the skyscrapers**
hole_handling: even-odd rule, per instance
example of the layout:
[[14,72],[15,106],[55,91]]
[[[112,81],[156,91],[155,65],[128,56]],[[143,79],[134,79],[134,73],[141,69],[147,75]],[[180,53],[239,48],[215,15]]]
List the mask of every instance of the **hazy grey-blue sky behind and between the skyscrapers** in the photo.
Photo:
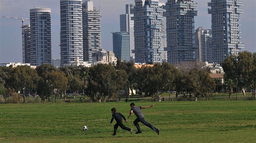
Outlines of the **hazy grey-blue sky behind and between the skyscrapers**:
[[[125,14],[125,4],[134,0],[92,0],[94,7],[101,13],[102,48],[113,51],[112,33],[119,32],[119,15]],[[167,2],[167,0],[159,0]],[[243,50],[256,52],[256,0],[242,0],[241,41]],[[207,2],[210,0],[194,0],[197,3],[195,29],[202,26],[211,28],[211,15],[208,14]],[[60,57],[60,0],[0,0],[0,16],[29,18],[29,10],[36,7],[52,10],[52,58]],[[29,21],[24,21],[24,25]],[[22,63],[22,22],[17,19],[0,18],[0,63]]]

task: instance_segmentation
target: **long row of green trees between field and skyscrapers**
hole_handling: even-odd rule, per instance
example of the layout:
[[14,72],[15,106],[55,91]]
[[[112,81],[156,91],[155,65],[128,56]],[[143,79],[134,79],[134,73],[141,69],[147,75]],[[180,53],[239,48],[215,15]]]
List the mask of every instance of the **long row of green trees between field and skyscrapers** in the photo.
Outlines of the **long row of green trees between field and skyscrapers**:
[[[232,95],[234,81],[239,85],[253,88],[256,86],[256,54],[247,51],[238,56],[230,56],[222,63],[225,71],[226,86]],[[179,65],[169,63],[155,64],[153,67],[135,68],[133,62],[117,60],[116,65],[98,64],[93,67],[61,67],[43,64],[36,69],[30,66],[0,67],[0,95],[4,98],[18,96],[26,102],[26,95],[38,95],[41,103],[66,97],[72,92],[74,96],[83,93],[93,102],[117,101],[119,91],[128,89],[145,97],[161,100],[163,92],[176,91],[184,98],[192,96],[209,98],[219,85],[219,80],[210,78],[210,70],[200,62],[185,62]],[[18,95],[17,95],[18,93]],[[231,96],[230,95],[230,96]],[[254,92],[255,96],[255,92]],[[2,98],[2,96],[1,96]]]

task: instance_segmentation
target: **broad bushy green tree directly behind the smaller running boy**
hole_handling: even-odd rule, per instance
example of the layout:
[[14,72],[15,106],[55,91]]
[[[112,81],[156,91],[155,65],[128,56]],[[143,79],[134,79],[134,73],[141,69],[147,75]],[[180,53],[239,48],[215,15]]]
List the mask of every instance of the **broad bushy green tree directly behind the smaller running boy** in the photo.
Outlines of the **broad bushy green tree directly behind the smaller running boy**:
[[[112,65],[98,64],[90,68],[91,78],[88,80],[87,95],[93,100],[101,102],[116,100],[119,90],[124,88],[127,74],[124,70],[116,70]],[[108,97],[109,89],[109,97]]]

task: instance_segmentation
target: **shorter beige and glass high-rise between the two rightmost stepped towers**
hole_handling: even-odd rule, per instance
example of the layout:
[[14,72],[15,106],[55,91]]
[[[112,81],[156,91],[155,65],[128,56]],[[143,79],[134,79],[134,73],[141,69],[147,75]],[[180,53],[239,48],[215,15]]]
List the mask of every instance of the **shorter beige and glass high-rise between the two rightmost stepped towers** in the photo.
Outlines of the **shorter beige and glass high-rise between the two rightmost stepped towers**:
[[212,30],[199,27],[195,30],[195,47],[197,60],[201,62],[213,63],[213,52],[210,48],[212,44]]

